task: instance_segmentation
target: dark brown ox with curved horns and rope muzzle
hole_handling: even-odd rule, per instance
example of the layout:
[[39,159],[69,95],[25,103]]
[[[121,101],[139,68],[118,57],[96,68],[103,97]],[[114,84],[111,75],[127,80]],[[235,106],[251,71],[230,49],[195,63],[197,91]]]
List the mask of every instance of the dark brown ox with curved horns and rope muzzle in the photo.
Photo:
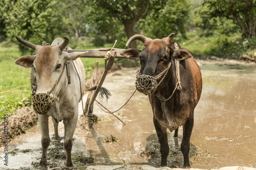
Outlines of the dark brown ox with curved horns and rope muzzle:
[[[169,153],[166,129],[171,132],[175,130],[174,136],[177,137],[179,126],[183,126],[183,166],[190,167],[189,140],[194,125],[194,109],[201,96],[202,77],[194,57],[188,50],[172,42],[173,37],[174,33],[167,38],[154,40],[134,35],[127,41],[126,46],[134,40],[140,40],[144,43],[144,50],[129,48],[122,55],[140,59],[141,68],[136,87],[140,92],[149,94],[160,142],[161,166],[167,165]],[[179,71],[175,63],[179,65]]]

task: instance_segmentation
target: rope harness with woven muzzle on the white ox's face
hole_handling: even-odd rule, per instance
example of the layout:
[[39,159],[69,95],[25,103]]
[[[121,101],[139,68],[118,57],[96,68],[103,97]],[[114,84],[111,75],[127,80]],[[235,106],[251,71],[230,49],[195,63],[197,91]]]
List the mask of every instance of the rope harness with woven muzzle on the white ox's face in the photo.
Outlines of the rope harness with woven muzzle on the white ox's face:
[[[68,84],[67,84],[65,91],[61,95],[65,94],[65,92],[67,91],[68,85],[71,83],[69,62],[66,62],[65,66],[62,67],[61,73],[50,91],[48,91],[47,93],[36,93],[35,95],[33,95],[32,105],[33,105],[33,109],[36,113],[46,114],[51,109],[51,107],[54,103],[54,99],[50,96],[50,93],[53,92],[53,96],[55,95],[57,84],[59,83],[65,68],[67,70]],[[58,95],[58,96],[61,96],[61,95]]]

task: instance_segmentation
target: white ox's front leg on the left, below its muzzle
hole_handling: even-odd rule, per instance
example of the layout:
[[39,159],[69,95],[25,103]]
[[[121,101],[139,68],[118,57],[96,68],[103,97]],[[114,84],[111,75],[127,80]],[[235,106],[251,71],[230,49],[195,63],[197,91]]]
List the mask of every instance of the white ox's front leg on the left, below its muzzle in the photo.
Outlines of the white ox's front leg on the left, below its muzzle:
[[47,169],[47,149],[50,144],[49,124],[47,115],[38,114],[38,121],[41,130],[42,157],[39,163],[39,169]]

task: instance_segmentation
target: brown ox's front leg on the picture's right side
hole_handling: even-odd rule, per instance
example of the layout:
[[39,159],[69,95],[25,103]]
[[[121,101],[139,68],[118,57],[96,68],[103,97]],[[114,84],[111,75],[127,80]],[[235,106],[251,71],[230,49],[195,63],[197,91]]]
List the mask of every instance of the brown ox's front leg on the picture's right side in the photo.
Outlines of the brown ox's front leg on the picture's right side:
[[194,118],[188,118],[187,122],[183,126],[183,138],[181,142],[181,152],[184,158],[183,167],[190,167],[188,154],[189,154],[189,141],[190,141],[193,125],[194,125]]

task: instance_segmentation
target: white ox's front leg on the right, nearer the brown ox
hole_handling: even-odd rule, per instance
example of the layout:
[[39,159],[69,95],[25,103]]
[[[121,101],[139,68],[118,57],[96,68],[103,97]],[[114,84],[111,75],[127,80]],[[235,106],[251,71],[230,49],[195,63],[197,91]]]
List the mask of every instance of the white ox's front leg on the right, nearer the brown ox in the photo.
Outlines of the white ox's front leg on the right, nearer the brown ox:
[[71,150],[73,145],[73,135],[76,128],[77,116],[72,117],[71,119],[66,119],[65,121],[65,140],[64,140],[64,148],[67,153],[66,166],[73,166],[71,160]]

